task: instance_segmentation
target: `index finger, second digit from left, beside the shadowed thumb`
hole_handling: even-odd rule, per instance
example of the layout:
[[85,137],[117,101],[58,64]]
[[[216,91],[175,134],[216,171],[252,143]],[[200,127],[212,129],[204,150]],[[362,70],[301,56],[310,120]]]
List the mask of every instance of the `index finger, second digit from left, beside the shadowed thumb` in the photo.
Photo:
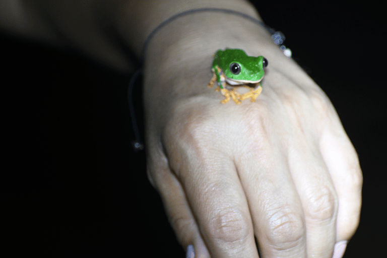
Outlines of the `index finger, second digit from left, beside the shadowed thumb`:
[[224,155],[217,154],[217,159],[204,160],[206,169],[202,174],[199,174],[200,167],[193,169],[197,173],[192,176],[202,177],[199,181],[202,186],[187,193],[202,235],[212,257],[258,257],[249,209],[235,165]]

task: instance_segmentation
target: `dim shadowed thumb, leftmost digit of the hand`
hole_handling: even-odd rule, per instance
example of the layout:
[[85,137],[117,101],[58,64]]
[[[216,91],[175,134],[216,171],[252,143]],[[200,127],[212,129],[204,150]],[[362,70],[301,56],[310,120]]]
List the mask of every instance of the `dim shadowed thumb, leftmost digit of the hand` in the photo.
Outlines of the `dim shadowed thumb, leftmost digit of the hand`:
[[193,245],[195,257],[211,258],[179,180],[169,169],[166,157],[156,148],[150,148],[152,155],[148,155],[147,160],[148,177],[160,194],[178,242],[185,250],[188,245]]

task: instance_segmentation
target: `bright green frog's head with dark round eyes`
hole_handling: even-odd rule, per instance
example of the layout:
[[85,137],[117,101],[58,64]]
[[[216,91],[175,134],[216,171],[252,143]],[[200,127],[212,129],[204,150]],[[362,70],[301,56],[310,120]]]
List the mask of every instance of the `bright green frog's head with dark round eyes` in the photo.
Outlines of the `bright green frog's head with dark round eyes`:
[[[243,51],[243,50],[242,50]],[[225,69],[227,83],[239,85],[245,83],[259,83],[265,75],[264,68],[268,66],[268,60],[263,56],[239,55],[230,58]]]

